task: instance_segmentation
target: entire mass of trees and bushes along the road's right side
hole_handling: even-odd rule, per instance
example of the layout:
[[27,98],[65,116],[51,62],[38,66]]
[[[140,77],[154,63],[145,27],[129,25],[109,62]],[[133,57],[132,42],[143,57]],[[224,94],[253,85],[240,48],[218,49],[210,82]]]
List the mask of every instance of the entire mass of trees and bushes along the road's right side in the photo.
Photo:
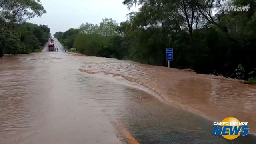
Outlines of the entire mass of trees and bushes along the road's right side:
[[[82,24],[54,36],[83,54],[166,66],[165,51],[174,48],[174,68],[253,80],[256,77],[255,0],[124,0],[140,5],[117,24]],[[247,12],[221,6],[250,6]]]

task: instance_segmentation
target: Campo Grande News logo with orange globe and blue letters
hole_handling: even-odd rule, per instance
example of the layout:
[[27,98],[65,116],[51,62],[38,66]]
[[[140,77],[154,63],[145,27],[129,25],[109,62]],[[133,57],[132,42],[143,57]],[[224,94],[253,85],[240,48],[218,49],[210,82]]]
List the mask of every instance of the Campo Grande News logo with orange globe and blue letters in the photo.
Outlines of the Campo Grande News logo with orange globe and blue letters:
[[234,140],[238,136],[246,136],[249,134],[248,122],[239,122],[234,117],[224,118],[221,122],[214,122],[212,135],[223,136],[228,140]]

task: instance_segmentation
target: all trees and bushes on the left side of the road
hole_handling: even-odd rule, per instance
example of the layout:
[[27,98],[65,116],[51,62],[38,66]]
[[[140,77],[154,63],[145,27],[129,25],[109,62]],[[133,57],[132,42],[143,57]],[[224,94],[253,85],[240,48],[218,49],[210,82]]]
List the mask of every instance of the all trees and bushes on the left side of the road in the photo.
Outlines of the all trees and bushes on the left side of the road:
[[50,29],[25,21],[45,12],[38,0],[1,0],[0,57],[3,54],[27,54],[44,46]]

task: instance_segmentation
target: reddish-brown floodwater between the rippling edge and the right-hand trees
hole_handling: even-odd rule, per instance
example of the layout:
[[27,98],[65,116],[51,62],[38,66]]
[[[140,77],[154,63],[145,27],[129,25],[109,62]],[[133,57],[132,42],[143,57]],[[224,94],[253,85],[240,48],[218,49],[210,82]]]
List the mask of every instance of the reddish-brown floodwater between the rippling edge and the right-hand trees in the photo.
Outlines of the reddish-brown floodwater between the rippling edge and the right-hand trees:
[[91,62],[82,70],[112,74],[146,86],[167,102],[213,121],[232,116],[250,124],[256,132],[256,86],[220,76],[196,74],[162,66],[139,64],[110,58],[82,56]]

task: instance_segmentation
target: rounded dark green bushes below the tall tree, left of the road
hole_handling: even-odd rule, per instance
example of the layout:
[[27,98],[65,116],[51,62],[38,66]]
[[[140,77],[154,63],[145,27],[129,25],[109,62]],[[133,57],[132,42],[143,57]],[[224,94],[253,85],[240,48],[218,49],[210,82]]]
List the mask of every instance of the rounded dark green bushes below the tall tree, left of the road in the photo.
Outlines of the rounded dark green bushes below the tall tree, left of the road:
[[50,37],[50,28],[45,25],[24,23],[15,26],[0,45],[4,54],[28,54],[40,50]]

